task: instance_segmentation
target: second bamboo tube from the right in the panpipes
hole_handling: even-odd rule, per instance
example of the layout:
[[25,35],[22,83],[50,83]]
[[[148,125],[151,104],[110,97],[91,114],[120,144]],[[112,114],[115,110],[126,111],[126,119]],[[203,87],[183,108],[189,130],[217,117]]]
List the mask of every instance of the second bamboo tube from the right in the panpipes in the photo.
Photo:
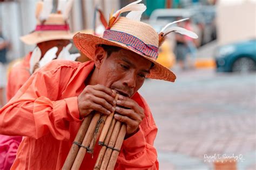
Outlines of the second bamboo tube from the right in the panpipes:
[[[116,143],[120,128],[121,128],[121,123],[119,121],[116,121],[116,124],[114,125],[114,130],[112,132],[112,135],[111,135],[111,138],[110,138],[110,141],[108,144],[109,147],[114,147],[114,144]],[[106,169],[107,164],[109,164],[109,159],[110,159],[111,153],[112,153],[112,149],[107,148],[104,158],[103,158],[103,161],[102,161],[102,165],[100,165],[100,170]]]

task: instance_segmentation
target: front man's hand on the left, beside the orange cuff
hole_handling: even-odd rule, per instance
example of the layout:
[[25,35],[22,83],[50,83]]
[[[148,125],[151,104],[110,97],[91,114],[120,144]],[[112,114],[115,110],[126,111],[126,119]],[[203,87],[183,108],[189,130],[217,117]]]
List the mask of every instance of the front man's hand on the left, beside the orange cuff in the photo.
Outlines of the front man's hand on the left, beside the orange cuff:
[[80,117],[83,118],[96,110],[102,114],[109,115],[114,111],[116,100],[116,91],[112,91],[103,85],[86,86],[82,93],[78,96],[78,109]]

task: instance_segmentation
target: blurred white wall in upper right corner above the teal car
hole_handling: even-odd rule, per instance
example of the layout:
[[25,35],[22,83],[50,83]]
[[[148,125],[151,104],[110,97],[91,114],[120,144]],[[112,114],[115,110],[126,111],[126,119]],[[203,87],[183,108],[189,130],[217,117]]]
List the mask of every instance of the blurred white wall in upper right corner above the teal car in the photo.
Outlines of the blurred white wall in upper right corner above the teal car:
[[230,4],[225,1],[217,5],[218,44],[256,38],[256,1],[237,0],[234,3],[235,0],[232,0]]

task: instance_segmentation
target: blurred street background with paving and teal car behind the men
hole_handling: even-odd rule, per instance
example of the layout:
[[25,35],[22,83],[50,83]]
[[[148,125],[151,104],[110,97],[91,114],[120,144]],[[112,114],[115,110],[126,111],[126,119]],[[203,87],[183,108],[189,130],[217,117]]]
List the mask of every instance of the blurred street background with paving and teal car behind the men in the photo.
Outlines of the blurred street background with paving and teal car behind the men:
[[[36,2],[0,0],[0,106],[6,102],[10,65],[35,48],[19,37],[35,29]],[[93,32],[100,26],[99,17],[93,17],[96,7],[108,19],[112,10],[131,2],[75,0],[71,30]],[[155,146],[160,169],[256,169],[256,1],[143,3],[142,21],[156,31],[190,18],[179,26],[199,37],[170,34],[158,62],[176,73],[176,82],[147,80],[140,89],[159,128]]]

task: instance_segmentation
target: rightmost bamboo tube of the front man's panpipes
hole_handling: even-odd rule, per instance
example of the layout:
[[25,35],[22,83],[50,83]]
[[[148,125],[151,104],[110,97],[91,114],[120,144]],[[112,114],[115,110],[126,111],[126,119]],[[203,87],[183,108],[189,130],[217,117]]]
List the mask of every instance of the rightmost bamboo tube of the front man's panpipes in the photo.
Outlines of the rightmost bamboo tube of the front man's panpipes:
[[[114,148],[116,150],[120,151],[120,149],[122,147],[122,144],[123,144],[123,141],[124,141],[125,134],[126,134],[126,125],[123,124],[119,133],[118,133],[116,144],[114,145]],[[107,168],[106,168],[107,170],[114,169],[114,166],[116,165],[117,158],[118,158],[118,155],[119,155],[119,152],[116,151],[116,150],[112,151],[112,154],[111,154],[111,157],[110,157],[110,160],[109,160],[109,165],[107,165]]]

